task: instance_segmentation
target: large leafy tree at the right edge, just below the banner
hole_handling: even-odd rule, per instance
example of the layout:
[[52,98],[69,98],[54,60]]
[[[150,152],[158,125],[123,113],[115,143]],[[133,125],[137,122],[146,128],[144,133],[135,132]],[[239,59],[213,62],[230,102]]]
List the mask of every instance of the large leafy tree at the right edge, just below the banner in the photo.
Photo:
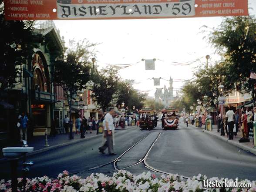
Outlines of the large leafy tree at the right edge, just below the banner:
[[211,43],[224,56],[226,65],[222,82],[228,91],[243,88],[251,91],[254,81],[249,79],[250,70],[256,71],[256,19],[227,17],[210,32]]

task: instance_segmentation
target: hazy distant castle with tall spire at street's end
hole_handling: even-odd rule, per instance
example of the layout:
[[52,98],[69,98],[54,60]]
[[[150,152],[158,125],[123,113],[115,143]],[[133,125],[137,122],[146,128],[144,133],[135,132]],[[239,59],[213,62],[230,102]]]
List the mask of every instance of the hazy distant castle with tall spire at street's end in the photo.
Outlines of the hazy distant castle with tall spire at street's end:
[[[169,107],[171,102],[176,99],[173,96],[173,79],[170,77],[169,80],[169,88],[167,89],[166,86],[164,88],[156,88],[155,91],[155,101],[160,102],[165,105],[165,107]],[[164,89],[164,91],[162,91]]]

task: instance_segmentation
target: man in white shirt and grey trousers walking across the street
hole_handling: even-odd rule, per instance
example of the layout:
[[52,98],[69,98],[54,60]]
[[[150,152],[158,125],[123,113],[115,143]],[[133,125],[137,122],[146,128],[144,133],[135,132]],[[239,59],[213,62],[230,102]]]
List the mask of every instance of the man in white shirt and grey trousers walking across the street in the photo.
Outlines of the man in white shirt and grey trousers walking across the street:
[[115,110],[113,108],[110,108],[109,112],[107,115],[105,115],[104,119],[104,137],[107,139],[105,141],[104,145],[99,147],[99,150],[101,153],[105,153],[104,150],[108,148],[108,153],[109,155],[116,155],[113,149],[113,135],[112,135],[112,130],[114,130],[114,119],[113,116],[115,114]]

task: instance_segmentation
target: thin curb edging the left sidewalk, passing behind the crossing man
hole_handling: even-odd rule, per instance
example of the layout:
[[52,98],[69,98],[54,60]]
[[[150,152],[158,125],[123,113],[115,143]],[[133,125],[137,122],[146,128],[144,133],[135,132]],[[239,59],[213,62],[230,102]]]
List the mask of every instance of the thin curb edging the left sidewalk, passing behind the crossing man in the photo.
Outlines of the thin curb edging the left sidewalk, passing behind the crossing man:
[[[131,127],[131,128],[120,129],[120,130],[128,130],[128,129],[133,129],[133,128],[137,128],[137,127],[134,126],[134,127]],[[117,129],[115,131],[118,131],[118,130],[119,129]],[[61,143],[61,144],[53,145],[53,146],[50,146],[50,147],[41,148],[41,149],[38,149],[36,151],[27,153],[26,156],[35,155],[35,154],[42,153],[42,152],[47,152],[47,151],[50,151],[52,149],[56,149],[56,148],[64,147],[64,146],[67,146],[67,145],[72,145],[72,144],[80,143],[82,141],[90,140],[92,138],[96,138],[96,137],[100,137],[100,136],[102,137],[102,135],[99,134],[99,135],[90,136],[88,138],[77,139],[77,140],[74,140],[74,141],[71,141],[71,142],[66,142],[66,143]],[[5,162],[8,162],[8,161],[9,160],[7,158],[0,158],[0,163],[5,163]]]

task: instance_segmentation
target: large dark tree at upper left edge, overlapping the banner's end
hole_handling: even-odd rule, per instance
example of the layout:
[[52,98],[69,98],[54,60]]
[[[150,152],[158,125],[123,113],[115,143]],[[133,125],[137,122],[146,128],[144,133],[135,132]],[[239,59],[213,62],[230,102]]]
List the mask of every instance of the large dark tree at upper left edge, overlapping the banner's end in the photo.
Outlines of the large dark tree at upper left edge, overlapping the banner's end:
[[22,64],[32,57],[34,47],[43,43],[41,34],[34,30],[34,21],[7,21],[0,2],[0,91],[13,88]]

